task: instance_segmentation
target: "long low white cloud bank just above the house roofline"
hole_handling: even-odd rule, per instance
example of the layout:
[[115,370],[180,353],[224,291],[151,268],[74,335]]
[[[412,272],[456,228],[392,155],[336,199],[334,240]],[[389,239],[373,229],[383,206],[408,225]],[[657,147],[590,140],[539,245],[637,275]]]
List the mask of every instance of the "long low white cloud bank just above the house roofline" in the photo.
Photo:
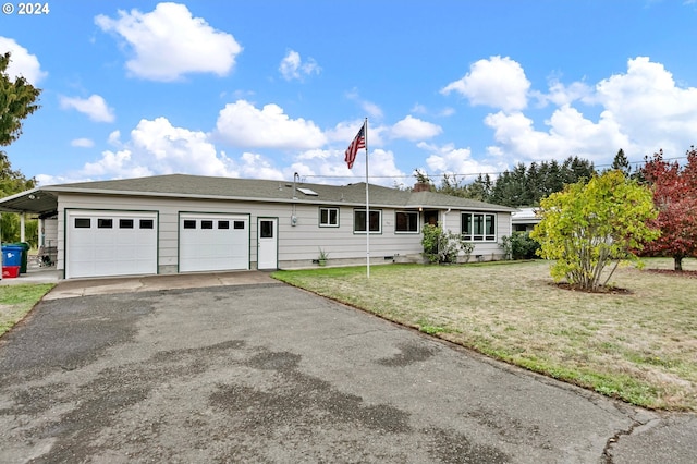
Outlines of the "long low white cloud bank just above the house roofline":
[[[343,131],[346,135],[345,141],[340,141],[345,142],[345,146],[291,150],[288,163],[278,166],[271,155],[262,151],[244,151],[237,157],[228,157],[216,148],[210,134],[173,126],[166,118],[142,120],[130,132],[130,139],[122,141],[119,131],[109,134],[108,143],[117,148],[102,151],[99,159],[63,176],[40,174],[37,180],[46,185],[169,173],[289,180],[298,172],[308,176],[308,182],[343,184],[346,179],[362,182],[365,176],[365,156],[358,156],[353,170],[344,162],[345,147],[356,135],[360,123],[343,123],[338,127],[339,132]],[[379,127],[378,131],[386,129]],[[406,176],[396,168],[394,159],[392,151],[371,149],[370,182],[392,186],[394,176]],[[335,179],[314,179],[314,175]]]

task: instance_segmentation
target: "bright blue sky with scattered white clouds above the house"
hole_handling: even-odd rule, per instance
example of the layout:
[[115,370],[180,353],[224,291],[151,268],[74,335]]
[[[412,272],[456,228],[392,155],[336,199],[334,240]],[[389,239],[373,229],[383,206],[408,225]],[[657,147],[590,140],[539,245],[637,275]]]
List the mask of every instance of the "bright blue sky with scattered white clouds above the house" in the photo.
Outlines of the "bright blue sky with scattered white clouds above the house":
[[465,181],[697,143],[694,0],[51,1],[0,16],[40,184],[191,173]]

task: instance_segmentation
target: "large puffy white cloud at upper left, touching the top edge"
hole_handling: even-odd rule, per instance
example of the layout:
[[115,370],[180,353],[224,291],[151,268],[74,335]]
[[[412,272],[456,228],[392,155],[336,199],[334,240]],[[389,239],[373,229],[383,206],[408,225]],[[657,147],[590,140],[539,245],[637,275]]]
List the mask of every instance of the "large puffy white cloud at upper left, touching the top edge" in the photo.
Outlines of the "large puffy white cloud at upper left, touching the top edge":
[[126,69],[152,81],[175,81],[187,73],[223,76],[242,51],[232,35],[193,17],[186,5],[179,3],[158,3],[150,13],[120,10],[115,20],[100,14],[95,23],[131,46],[135,57],[126,62]]

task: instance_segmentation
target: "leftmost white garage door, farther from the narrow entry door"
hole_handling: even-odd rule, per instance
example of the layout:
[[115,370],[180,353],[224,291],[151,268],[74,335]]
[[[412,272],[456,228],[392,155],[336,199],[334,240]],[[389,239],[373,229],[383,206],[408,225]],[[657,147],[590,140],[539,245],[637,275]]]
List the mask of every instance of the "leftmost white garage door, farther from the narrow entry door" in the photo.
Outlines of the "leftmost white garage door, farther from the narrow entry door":
[[65,278],[157,273],[157,212],[69,210]]

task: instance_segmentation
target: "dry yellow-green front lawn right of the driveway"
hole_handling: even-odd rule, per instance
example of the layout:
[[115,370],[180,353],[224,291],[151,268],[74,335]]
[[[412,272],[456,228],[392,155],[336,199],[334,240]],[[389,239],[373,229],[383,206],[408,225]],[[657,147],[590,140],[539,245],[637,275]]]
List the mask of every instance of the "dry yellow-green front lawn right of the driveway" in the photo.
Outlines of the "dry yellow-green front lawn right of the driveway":
[[[686,259],[686,270],[696,270]],[[697,411],[697,279],[620,268],[627,292],[554,285],[549,264],[372,266],[279,271],[274,278],[491,357],[626,402]]]

